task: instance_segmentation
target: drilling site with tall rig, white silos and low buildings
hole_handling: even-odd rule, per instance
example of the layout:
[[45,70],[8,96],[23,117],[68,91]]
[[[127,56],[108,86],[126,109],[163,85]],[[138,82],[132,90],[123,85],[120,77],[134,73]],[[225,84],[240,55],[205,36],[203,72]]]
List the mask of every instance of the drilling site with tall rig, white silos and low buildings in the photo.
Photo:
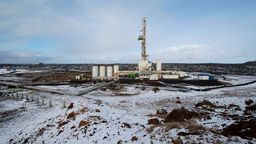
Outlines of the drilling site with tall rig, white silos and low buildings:
[[[93,66],[92,73],[89,75],[76,76],[76,81],[111,81],[117,80],[122,77],[121,81],[125,81],[124,78],[129,78],[129,82],[158,82],[173,79],[183,79],[188,77],[188,74],[180,70],[162,70],[162,61],[156,60],[156,67],[154,68],[152,63],[148,60],[149,55],[146,51],[146,18],[142,19],[142,32],[138,37],[138,41],[141,42],[141,60],[138,61],[138,66],[135,70],[119,70],[119,66]],[[126,79],[127,80],[127,79]],[[198,76],[198,80],[213,80],[213,75],[202,74]]]

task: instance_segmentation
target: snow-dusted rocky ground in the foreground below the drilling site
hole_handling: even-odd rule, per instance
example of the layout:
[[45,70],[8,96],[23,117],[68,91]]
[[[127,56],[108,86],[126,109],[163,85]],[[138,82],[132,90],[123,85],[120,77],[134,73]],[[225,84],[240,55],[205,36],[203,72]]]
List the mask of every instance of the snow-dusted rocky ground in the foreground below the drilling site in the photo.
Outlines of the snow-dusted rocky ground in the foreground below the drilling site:
[[[70,92],[89,88],[69,85],[40,87]],[[0,92],[6,89],[7,87],[2,87]],[[9,91],[17,90],[22,89],[9,89]],[[177,133],[187,132],[187,129],[166,129],[165,125],[153,129],[152,125],[147,124],[148,119],[155,118],[148,115],[156,114],[157,109],[166,109],[168,113],[175,108],[190,109],[204,99],[218,106],[228,106],[233,103],[241,108],[241,110],[218,108],[215,109],[214,114],[225,111],[230,115],[242,116],[246,106],[244,101],[246,99],[256,101],[256,83],[206,92],[161,90],[155,93],[152,89],[143,91],[128,86],[117,90],[97,90],[82,96],[28,90],[22,92],[45,98],[45,105],[40,106],[35,101],[27,102],[26,109],[19,109],[22,107],[21,99],[12,101],[10,97],[1,95],[0,143],[117,143],[120,140],[122,143],[172,143],[175,140],[181,140],[183,143],[256,143],[255,139],[228,138],[210,131],[206,131],[203,135],[183,137],[178,136]],[[175,103],[177,97],[180,98],[181,103]],[[49,99],[52,100],[51,108],[48,107]],[[61,109],[63,100],[68,105],[74,103],[74,108]],[[96,109],[100,112],[96,112]],[[72,111],[75,113],[75,118],[67,119],[67,115]],[[256,116],[255,113],[252,115]],[[159,117],[158,119],[161,120]],[[81,121],[89,124],[79,127]],[[217,116],[205,121],[197,119],[196,122],[202,124],[205,129],[222,129],[223,124],[230,125],[234,120]],[[152,131],[149,131],[150,129]],[[132,137],[138,140],[132,141]]]

